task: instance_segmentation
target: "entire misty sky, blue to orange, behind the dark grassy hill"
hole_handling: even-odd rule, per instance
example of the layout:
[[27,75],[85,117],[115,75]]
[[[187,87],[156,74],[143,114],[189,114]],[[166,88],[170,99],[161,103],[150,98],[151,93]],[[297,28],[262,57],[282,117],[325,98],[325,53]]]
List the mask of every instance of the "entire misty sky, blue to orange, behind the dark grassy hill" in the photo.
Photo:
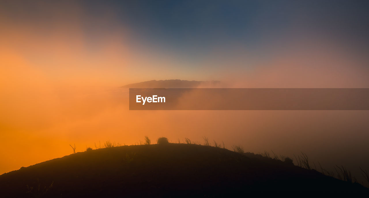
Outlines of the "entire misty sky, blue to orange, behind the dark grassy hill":
[[132,112],[117,89],[153,79],[369,88],[368,4],[1,1],[0,174],[69,155],[69,144],[145,135],[369,169],[367,111]]

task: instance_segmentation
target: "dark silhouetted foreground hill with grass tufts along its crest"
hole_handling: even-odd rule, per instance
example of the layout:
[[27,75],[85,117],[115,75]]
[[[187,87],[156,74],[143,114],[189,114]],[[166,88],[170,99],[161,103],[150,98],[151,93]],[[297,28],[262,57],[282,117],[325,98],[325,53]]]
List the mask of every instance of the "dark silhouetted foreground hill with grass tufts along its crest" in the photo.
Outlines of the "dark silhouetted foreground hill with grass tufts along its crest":
[[368,188],[287,163],[189,144],[80,152],[0,176],[0,197],[221,196]]

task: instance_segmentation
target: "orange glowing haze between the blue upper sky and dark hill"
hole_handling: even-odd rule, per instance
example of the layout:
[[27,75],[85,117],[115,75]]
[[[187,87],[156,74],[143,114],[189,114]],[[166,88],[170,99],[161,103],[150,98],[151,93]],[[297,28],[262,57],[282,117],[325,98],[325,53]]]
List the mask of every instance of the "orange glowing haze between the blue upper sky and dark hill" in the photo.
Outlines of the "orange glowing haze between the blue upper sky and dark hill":
[[[53,9],[54,23],[12,21],[0,12],[0,174],[111,140],[135,144],[148,135],[172,141],[222,140],[227,148],[273,149],[292,156],[368,167],[366,111],[129,111],[117,87],[152,79],[221,80],[228,87],[368,88],[368,62],[343,43],[291,38],[256,57],[238,44],[214,47],[190,60],[140,40],[129,26],[101,29],[91,47],[78,6]],[[114,16],[96,26],[114,24]],[[330,159],[327,159],[330,156]],[[342,159],[341,159],[342,157]],[[351,164],[353,167],[354,165]],[[350,166],[350,165],[348,165]]]

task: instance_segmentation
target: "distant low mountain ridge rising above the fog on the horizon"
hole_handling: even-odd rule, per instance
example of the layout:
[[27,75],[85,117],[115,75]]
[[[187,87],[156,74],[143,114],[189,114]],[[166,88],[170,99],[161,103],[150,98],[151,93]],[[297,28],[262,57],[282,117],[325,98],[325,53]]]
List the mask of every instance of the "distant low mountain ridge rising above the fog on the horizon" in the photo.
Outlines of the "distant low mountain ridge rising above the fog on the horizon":
[[186,81],[179,79],[172,80],[152,80],[132,83],[121,86],[121,88],[197,88],[199,86],[213,87],[220,84],[220,81]]

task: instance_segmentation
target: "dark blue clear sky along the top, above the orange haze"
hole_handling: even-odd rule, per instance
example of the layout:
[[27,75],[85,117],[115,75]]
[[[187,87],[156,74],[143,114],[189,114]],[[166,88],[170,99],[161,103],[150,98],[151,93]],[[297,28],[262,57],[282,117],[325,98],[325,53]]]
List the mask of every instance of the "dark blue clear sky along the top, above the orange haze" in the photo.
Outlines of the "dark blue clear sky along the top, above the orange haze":
[[[88,15],[113,13],[139,38],[192,53],[308,34],[368,43],[368,1],[86,1]],[[93,28],[92,28],[93,30]],[[302,35],[302,33],[305,33]]]

